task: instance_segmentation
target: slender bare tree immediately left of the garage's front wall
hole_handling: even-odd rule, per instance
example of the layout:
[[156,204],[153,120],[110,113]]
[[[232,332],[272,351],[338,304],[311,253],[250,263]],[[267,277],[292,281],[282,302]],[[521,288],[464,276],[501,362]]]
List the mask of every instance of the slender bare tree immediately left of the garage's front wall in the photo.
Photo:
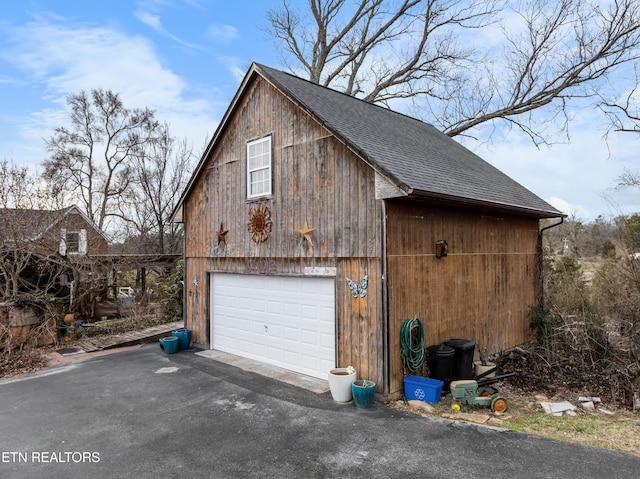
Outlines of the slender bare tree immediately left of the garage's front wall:
[[195,155],[186,140],[172,137],[169,125],[158,128],[157,137],[136,150],[131,170],[133,187],[120,203],[120,214],[133,227],[132,234],[147,252],[180,251],[180,234],[170,223],[173,211]]

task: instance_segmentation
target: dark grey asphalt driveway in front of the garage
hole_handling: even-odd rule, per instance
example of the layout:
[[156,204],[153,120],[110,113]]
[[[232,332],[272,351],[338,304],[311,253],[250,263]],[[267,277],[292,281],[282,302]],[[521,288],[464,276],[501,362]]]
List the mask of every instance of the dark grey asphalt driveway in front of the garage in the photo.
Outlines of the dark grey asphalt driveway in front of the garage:
[[640,457],[363,410],[157,344],[0,381],[2,478],[637,478]]

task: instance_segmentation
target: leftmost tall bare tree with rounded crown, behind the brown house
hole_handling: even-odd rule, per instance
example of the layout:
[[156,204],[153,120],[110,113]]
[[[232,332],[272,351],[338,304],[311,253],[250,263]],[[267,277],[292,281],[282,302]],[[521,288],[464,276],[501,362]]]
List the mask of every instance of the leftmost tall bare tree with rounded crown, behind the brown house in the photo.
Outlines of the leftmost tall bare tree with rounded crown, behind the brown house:
[[44,178],[56,191],[81,202],[87,216],[105,229],[115,205],[129,189],[134,154],[157,136],[154,112],[129,110],[112,91],[69,95],[70,126],[58,127],[47,141],[51,158]]

